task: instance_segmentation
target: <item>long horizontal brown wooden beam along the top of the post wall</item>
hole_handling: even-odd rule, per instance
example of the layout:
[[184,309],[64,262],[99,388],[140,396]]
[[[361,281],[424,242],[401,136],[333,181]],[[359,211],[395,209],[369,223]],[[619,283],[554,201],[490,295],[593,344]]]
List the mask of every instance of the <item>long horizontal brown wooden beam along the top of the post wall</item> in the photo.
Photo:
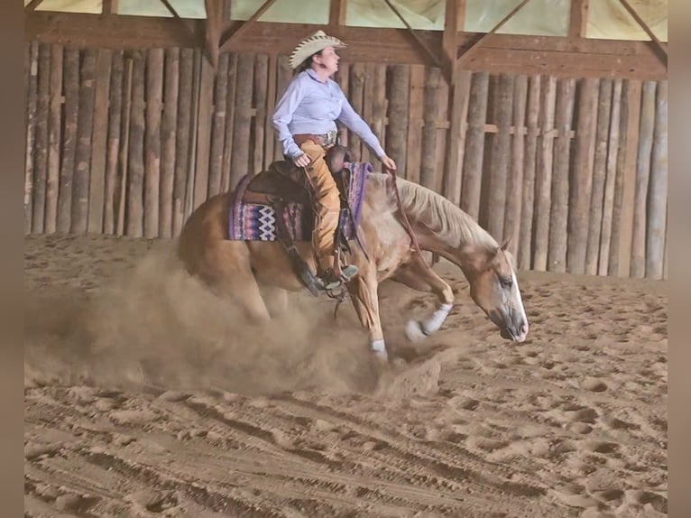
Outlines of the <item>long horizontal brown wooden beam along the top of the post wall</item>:
[[[174,20],[168,17],[119,16],[110,14],[51,13],[36,11],[24,16],[28,42],[50,42],[72,47],[142,49],[145,47],[202,48],[204,20]],[[180,25],[185,30],[180,31]],[[317,31],[323,25],[300,25]],[[242,39],[224,51],[290,55],[299,42],[295,23],[257,22]],[[432,48],[442,48],[440,31],[417,31]],[[348,42],[344,62],[430,65],[426,54],[410,45],[400,29],[339,27],[334,35]],[[459,46],[476,41],[476,33],[458,36]],[[576,40],[555,36],[492,34],[481,48],[464,61],[464,69],[489,73],[551,74],[557,77],[666,79],[667,68],[650,42]]]

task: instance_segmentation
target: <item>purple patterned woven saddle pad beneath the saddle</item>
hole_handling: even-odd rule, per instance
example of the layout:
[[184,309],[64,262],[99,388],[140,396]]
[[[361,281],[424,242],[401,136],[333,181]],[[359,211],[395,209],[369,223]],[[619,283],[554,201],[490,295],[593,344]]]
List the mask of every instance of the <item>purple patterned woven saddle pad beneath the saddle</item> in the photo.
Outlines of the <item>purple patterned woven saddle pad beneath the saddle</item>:
[[[342,215],[339,227],[346,239],[355,238],[355,227],[360,224],[367,174],[374,171],[369,162],[345,162],[344,169],[351,172],[347,192],[348,206],[353,212],[353,222]],[[268,206],[241,201],[247,184],[253,175],[247,174],[237,184],[230,203],[228,239],[241,241],[275,241],[277,239],[276,213]],[[311,241],[314,217],[312,208],[300,203],[288,203],[281,215],[293,241]],[[355,223],[355,226],[353,225]]]

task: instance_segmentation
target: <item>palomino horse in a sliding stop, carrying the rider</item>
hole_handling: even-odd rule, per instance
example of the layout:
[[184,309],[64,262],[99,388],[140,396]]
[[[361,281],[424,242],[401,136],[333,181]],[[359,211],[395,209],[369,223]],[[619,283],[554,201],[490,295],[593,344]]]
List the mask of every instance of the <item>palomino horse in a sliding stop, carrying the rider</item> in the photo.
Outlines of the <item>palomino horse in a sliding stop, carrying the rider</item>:
[[[419,248],[445,257],[463,271],[471,298],[500,329],[502,338],[525,340],[528,319],[506,244],[499,245],[472,217],[436,192],[402,179],[396,180],[396,186]],[[269,287],[272,299],[278,298],[283,308],[288,291],[303,290],[304,285],[280,243],[228,239],[232,198],[232,192],[219,194],[190,215],[180,234],[178,254],[190,274],[220,296],[232,297],[250,319],[271,319],[260,285]],[[406,335],[411,340],[437,331],[454,303],[451,287],[411,246],[398,213],[392,177],[370,173],[360,224],[366,254],[357,245],[351,247],[349,260],[359,273],[347,290],[358,318],[369,330],[373,353],[380,359],[388,358],[379,318],[380,282],[391,279],[437,295],[438,309],[428,319],[408,322]],[[299,241],[295,245],[314,271],[311,244]]]

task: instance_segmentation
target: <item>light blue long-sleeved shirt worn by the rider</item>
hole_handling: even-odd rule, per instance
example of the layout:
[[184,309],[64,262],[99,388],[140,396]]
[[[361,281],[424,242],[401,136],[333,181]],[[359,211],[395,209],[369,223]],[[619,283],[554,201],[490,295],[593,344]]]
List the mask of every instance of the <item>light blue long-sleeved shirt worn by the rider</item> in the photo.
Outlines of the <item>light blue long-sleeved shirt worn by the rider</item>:
[[357,115],[333,79],[322,82],[313,69],[300,72],[290,81],[273,112],[273,127],[283,145],[283,154],[297,158],[304,153],[294,134],[326,134],[336,131],[340,121],[382,158],[385,154],[372,129]]

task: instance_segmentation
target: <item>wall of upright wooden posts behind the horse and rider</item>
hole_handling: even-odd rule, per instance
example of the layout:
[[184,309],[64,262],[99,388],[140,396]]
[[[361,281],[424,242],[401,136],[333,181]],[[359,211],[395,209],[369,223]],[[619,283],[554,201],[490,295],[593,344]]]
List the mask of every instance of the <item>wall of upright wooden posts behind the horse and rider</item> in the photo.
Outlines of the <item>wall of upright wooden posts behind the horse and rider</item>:
[[[170,238],[282,159],[285,56],[27,44],[25,231]],[[401,176],[522,269],[665,278],[667,83],[343,63],[339,85]],[[355,159],[380,162],[347,128]]]

